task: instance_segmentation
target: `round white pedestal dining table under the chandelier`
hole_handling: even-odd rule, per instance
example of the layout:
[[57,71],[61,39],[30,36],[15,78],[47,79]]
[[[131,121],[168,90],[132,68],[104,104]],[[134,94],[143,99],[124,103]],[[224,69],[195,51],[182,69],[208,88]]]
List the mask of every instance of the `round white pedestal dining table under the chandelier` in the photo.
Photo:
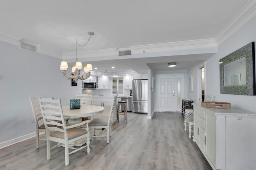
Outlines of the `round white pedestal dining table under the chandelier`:
[[[95,106],[95,105],[82,105],[80,109],[70,109],[70,106],[63,106],[62,112],[64,115],[64,119],[68,119],[68,125],[74,125],[77,123],[81,123],[81,117],[90,117],[94,115],[98,115],[103,113],[104,107],[102,106]],[[86,143],[86,138],[83,140],[75,141],[69,146],[82,146]],[[59,144],[62,146],[62,144]]]

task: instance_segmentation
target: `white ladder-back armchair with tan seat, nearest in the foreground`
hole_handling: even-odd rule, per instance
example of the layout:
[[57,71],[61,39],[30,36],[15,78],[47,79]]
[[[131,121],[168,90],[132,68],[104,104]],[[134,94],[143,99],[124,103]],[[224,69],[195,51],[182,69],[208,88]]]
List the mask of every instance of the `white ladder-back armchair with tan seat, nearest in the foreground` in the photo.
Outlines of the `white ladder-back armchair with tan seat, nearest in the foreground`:
[[[46,128],[46,148],[47,148],[47,160],[51,159],[50,154],[50,141],[58,142],[58,146],[63,146],[65,148],[65,165],[69,164],[69,154],[75,153],[85,147],[87,147],[87,153],[90,153],[90,133],[88,132],[88,123],[90,120],[82,121],[75,125],[67,126],[64,120],[64,115],[62,111],[62,105],[60,99],[38,99],[41,113],[44,120],[44,125]],[[57,121],[61,121],[58,123]],[[86,129],[78,128],[81,125],[86,124]],[[58,126],[58,127],[57,127]],[[69,146],[77,140],[82,140],[86,138],[86,145],[79,148]],[[69,152],[69,148],[73,149]]]

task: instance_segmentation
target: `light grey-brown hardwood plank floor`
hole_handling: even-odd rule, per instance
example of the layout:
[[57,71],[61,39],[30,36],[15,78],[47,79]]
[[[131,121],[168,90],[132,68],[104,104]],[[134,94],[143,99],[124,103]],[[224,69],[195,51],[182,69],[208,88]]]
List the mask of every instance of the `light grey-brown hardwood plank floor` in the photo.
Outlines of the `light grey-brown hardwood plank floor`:
[[[106,130],[104,130],[106,131]],[[41,135],[41,137],[44,137]],[[51,143],[53,146],[54,143]],[[51,150],[46,160],[46,141],[36,138],[0,149],[1,170],[212,170],[198,146],[184,131],[180,113],[128,113],[128,123],[120,117],[112,125],[112,136],[92,138],[91,152],[80,150],[69,156],[65,166],[64,148]]]

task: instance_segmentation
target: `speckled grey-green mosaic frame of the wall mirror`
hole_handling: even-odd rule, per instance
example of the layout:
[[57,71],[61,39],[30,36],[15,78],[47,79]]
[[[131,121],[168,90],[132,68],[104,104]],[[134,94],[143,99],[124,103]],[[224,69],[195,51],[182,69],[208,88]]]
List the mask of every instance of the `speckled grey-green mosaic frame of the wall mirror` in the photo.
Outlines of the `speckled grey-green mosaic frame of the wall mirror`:
[[[246,62],[246,84],[224,86],[223,66],[245,56]],[[255,91],[255,49],[254,42],[230,53],[220,59],[220,93],[232,95],[256,95]]]

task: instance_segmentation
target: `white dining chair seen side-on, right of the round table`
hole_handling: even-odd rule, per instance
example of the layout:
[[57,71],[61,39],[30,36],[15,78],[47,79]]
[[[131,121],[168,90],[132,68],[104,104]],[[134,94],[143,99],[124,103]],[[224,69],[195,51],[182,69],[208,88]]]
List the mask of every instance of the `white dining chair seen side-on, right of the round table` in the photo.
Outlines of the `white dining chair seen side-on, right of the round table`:
[[[92,138],[95,137],[107,137],[107,143],[109,143],[109,137],[111,136],[111,125],[112,125],[112,116],[113,116],[113,111],[114,107],[116,106],[116,96],[113,99],[113,103],[110,109],[109,117],[108,119],[106,118],[95,118],[92,119],[92,121],[89,123],[89,127],[91,129],[94,129],[94,136],[91,136]],[[101,132],[99,135],[95,135],[95,130],[96,129],[101,129]],[[106,129],[107,130],[107,135],[101,135],[102,131]]]

